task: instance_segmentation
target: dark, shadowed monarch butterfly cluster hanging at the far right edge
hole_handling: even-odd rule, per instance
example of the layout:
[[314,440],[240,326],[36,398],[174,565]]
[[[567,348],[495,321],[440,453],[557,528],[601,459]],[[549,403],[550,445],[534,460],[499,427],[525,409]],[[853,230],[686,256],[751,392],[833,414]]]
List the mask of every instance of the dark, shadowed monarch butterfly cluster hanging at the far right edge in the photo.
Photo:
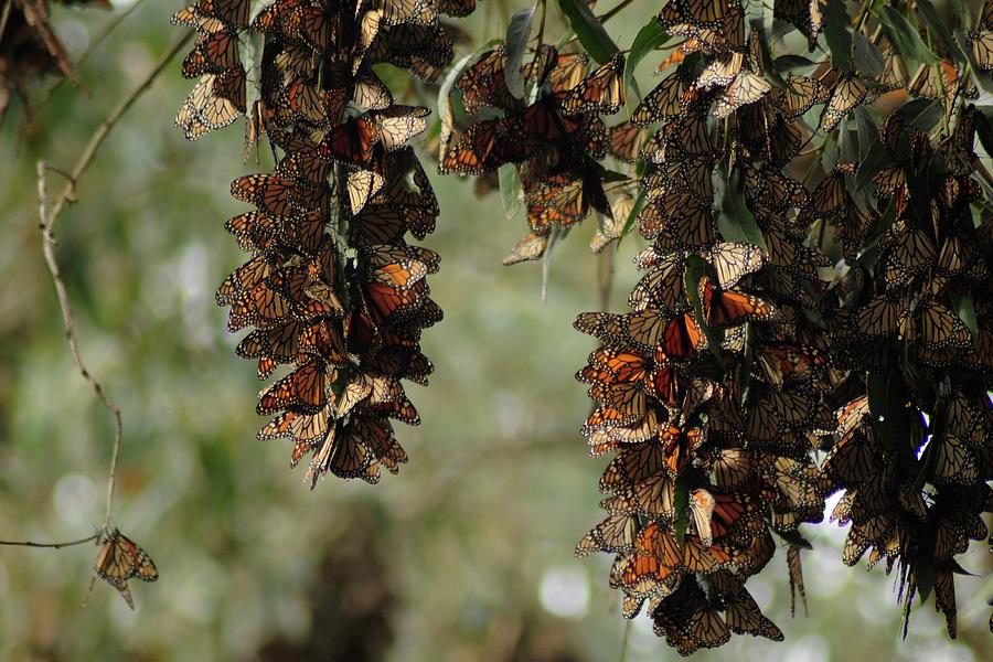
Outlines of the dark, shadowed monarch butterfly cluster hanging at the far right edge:
[[882,124],[875,195],[857,201],[879,233],[875,265],[855,261],[862,287],[841,288],[851,298],[830,328],[839,365],[868,374],[840,389],[851,399],[822,466],[823,491],[844,490],[832,519],[851,523],[845,564],[868,552],[869,567],[899,566],[907,618],[919,576],[931,577],[921,592],[933,586],[952,637],[954,557],[989,536],[993,510],[993,228],[970,209],[978,113],[964,105],[937,146],[900,115]]

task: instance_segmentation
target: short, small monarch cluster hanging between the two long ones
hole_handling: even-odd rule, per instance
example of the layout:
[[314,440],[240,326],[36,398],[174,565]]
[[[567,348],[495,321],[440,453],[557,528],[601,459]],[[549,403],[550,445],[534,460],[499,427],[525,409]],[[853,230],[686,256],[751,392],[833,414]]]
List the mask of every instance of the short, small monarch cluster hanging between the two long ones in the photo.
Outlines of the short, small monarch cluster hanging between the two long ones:
[[[601,116],[623,107],[624,57],[616,53],[588,72],[586,54],[541,44],[521,67],[531,84],[524,98],[511,93],[506,66],[501,44],[460,73],[455,87],[469,126],[447,137],[439,168],[484,175],[515,164],[530,232],[504,260],[514,264],[541,257],[553,231],[568,229],[591,210],[612,217],[604,191],[609,173],[598,163],[608,147]],[[473,121],[483,116],[489,119]]]

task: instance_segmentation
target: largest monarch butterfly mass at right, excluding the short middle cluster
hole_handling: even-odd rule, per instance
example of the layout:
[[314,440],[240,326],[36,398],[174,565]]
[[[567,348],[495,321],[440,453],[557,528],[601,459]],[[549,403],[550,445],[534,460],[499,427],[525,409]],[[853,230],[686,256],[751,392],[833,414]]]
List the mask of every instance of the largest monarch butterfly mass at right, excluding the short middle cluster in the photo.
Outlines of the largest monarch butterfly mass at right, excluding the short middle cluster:
[[[816,43],[816,2],[777,2],[776,18]],[[630,312],[575,324],[600,343],[577,374],[597,402],[583,434],[613,455],[607,517],[577,554],[615,554],[624,616],[648,604],[683,654],[778,640],[747,579],[781,540],[802,596],[799,526],[844,490],[843,560],[898,565],[908,613],[933,587],[954,637],[954,557],[989,536],[993,506],[974,89],[950,61],[908,77],[885,39],[873,71],[780,75],[736,0],[672,0],[656,21],[679,39],[666,75],[616,128],[639,148],[647,273]],[[867,131],[865,106],[894,92],[914,100]],[[834,149],[823,167],[804,160],[818,142]]]

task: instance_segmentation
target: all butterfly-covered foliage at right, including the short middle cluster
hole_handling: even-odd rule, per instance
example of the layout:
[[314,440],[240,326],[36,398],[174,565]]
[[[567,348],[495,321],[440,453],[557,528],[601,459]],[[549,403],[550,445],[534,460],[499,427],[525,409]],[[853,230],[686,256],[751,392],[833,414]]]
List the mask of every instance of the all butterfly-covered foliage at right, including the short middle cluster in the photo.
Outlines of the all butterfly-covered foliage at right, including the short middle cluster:
[[957,557],[993,544],[993,2],[669,0],[627,57],[573,9],[576,39],[512,20],[449,74],[439,160],[523,206],[508,264],[591,213],[595,250],[649,242],[630,311],[575,324],[612,456],[577,554],[683,654],[779,640],[747,580],[786,546],[803,597],[800,525],[843,491],[844,563],[898,568],[905,633],[933,592],[954,637]]

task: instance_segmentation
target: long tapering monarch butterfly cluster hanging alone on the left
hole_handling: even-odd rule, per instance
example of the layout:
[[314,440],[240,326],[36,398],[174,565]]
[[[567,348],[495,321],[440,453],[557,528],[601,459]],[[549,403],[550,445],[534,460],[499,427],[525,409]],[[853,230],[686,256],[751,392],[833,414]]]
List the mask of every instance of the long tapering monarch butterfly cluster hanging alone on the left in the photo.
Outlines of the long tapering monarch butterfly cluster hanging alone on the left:
[[[448,4],[277,0],[252,15],[247,0],[201,0],[177,14],[200,33],[183,73],[201,76],[177,124],[194,139],[250,106],[248,135],[276,160],[232,183],[254,209],[225,227],[250,257],[216,299],[231,331],[253,328],[237,354],[259,378],[288,366],[259,395],[275,418],[258,436],[290,439],[292,466],[311,453],[311,485],[395,473],[407,455],[391,420],[420,421],[401,381],[427,383],[420,333],[441,319],[426,281],[439,257],[406,239],[439,214],[409,145],[428,110],[396,104],[373,65],[437,76],[452,52],[438,12],[466,9]],[[247,72],[238,40],[254,44]]]

